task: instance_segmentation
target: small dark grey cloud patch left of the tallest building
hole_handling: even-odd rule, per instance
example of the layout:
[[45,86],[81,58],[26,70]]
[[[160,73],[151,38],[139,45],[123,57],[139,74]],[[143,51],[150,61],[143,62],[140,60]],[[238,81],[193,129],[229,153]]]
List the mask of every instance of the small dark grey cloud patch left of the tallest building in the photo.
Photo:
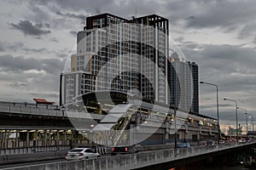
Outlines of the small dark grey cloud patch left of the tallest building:
[[9,25],[12,28],[19,30],[23,32],[25,35],[29,35],[29,36],[40,37],[42,35],[46,35],[50,33],[49,30],[48,31],[42,30],[41,26],[38,26],[38,24],[32,25],[32,22],[30,22],[29,20],[20,20],[18,24],[10,23]]

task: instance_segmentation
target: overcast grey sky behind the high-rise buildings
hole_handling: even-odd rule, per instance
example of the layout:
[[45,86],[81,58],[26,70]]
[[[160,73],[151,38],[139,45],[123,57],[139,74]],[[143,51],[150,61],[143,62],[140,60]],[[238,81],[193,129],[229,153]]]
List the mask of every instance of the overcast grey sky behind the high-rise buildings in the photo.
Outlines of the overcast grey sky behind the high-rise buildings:
[[[200,80],[218,84],[221,124],[234,124],[236,99],[256,119],[256,1],[253,0],[2,0],[0,100],[58,103],[59,75],[75,53],[87,16],[159,14]],[[172,47],[170,47],[172,48]],[[200,85],[201,114],[216,117],[216,90]],[[245,122],[238,111],[239,123]]]

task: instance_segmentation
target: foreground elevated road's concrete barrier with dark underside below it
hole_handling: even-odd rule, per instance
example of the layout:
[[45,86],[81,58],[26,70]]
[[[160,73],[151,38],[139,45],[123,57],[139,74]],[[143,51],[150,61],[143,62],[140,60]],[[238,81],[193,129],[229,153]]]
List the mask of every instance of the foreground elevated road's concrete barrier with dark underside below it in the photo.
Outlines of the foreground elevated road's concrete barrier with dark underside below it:
[[[214,160],[213,167],[221,169],[225,163],[234,163],[237,150],[247,150],[255,147],[256,142],[244,144],[219,144],[214,146],[195,146],[189,149],[166,149],[154,150],[136,154],[121,156],[104,156],[97,159],[82,161],[61,161],[34,166],[12,167],[9,169],[56,169],[56,170],[79,170],[79,169],[179,169],[178,167],[194,167],[191,169],[202,169],[203,163]],[[214,158],[213,158],[214,157]],[[217,159],[216,159],[217,158]],[[181,168],[182,169],[182,168]]]

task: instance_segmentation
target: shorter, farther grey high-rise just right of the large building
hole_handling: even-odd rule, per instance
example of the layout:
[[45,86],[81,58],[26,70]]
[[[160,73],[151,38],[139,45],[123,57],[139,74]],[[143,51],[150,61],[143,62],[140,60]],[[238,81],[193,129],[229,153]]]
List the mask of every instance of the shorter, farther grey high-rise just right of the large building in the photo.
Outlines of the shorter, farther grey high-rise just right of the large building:
[[199,113],[198,65],[179,59],[177,53],[168,60],[170,105],[183,111]]

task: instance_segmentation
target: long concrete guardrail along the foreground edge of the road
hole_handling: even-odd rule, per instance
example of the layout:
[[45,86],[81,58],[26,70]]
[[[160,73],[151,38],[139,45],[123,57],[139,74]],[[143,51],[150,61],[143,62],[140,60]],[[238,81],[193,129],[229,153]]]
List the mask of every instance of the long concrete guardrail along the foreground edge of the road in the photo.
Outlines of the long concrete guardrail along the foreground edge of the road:
[[197,146],[190,149],[181,150],[154,150],[137,154],[122,155],[122,156],[108,156],[97,159],[90,159],[84,161],[61,161],[57,163],[47,163],[33,166],[23,167],[12,167],[5,168],[9,169],[26,169],[26,170],[37,170],[37,169],[56,169],[56,170],[79,170],[83,169],[134,169],[139,167],[148,167],[150,165],[165,163],[168,161],[176,161],[190,156],[200,156],[202,154],[212,153],[220,150],[228,150],[236,148],[238,146],[246,146],[248,144],[221,144],[215,146]]

